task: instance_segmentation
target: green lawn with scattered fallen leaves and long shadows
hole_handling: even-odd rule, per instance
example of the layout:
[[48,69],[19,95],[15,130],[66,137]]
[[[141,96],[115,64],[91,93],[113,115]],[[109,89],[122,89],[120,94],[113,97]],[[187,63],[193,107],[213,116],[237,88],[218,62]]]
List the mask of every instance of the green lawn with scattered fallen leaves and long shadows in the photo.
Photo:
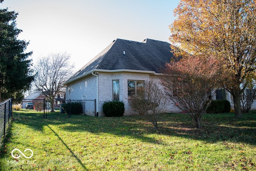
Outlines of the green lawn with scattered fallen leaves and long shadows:
[[[138,116],[90,117],[14,111],[0,149],[0,170],[256,170],[256,111],[205,114],[202,129],[186,114],[166,113],[159,129]],[[15,160],[13,149],[26,156]],[[16,151],[14,155],[18,153]]]

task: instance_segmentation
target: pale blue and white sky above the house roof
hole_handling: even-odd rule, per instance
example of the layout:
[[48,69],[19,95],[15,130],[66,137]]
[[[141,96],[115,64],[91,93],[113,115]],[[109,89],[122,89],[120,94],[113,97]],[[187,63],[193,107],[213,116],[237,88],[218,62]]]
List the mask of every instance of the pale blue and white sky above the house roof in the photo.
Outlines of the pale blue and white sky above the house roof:
[[19,13],[18,39],[30,41],[33,63],[49,53],[68,52],[76,70],[120,38],[169,42],[168,26],[179,0],[4,0]]

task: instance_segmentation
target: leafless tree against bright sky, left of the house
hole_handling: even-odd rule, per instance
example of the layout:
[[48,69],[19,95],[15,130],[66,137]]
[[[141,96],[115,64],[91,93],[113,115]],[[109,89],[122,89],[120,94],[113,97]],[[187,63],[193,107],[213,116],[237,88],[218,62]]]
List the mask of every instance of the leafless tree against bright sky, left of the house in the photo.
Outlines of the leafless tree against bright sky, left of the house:
[[33,85],[47,100],[52,101],[52,111],[55,95],[64,90],[64,82],[73,74],[74,64],[70,64],[69,60],[70,55],[66,52],[52,53],[41,58],[34,67],[36,78]]

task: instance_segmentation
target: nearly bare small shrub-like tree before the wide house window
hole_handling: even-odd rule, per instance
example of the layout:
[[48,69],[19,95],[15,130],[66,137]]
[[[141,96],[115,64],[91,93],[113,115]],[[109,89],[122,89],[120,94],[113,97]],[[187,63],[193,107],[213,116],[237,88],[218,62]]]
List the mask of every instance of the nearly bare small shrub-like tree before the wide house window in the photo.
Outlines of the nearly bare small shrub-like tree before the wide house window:
[[137,90],[137,94],[129,99],[129,105],[157,129],[159,114],[166,110],[166,98],[160,85],[155,81],[146,81],[144,86]]

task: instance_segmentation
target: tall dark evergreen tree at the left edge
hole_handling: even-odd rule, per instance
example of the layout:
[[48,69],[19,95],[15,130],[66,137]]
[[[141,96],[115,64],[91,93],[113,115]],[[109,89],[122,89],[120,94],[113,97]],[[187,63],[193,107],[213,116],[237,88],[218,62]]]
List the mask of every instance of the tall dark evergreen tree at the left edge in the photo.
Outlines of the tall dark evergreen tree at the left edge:
[[22,32],[16,27],[17,15],[8,8],[0,9],[0,100],[28,89],[34,80],[32,60],[28,60],[32,52],[24,53],[29,42],[17,39]]

